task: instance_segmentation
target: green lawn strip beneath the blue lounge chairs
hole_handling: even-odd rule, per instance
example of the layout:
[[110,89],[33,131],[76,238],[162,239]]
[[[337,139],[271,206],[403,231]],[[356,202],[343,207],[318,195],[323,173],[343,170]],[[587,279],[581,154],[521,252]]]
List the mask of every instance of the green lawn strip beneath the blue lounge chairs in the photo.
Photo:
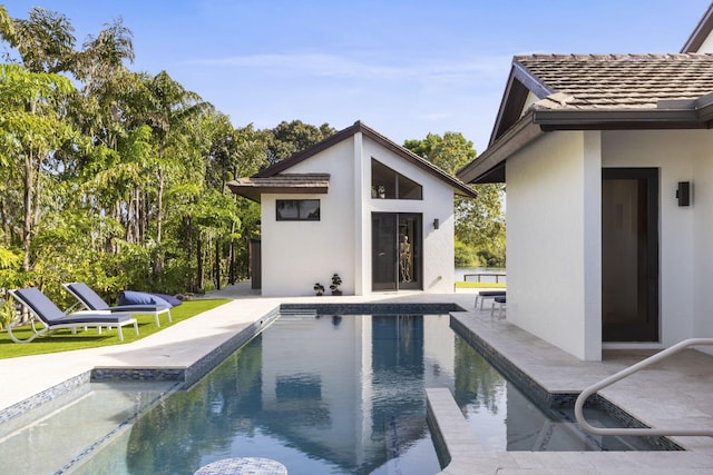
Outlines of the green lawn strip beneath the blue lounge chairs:
[[[69,352],[72,349],[97,348],[100,346],[126,345],[128,343],[146,338],[149,335],[176,325],[177,323],[194,317],[203,311],[218,307],[227,301],[229,301],[227,298],[184,301],[182,305],[170,309],[170,318],[173,321],[167,321],[165,315],[160,316],[160,328],[156,326],[153,315],[137,315],[138,336],[134,334],[133,326],[126,326],[124,327],[124,342],[119,342],[119,336],[116,329],[104,329],[100,335],[97,333],[96,328],[89,328],[87,331],[77,331],[76,335],[72,335],[69,329],[62,329],[51,336],[39,337],[25,344],[12,342],[8,333],[2,331],[0,333],[0,359],[14,358],[18,356],[41,355],[47,353]],[[29,326],[20,327],[13,329],[12,334],[18,338],[28,338],[32,334],[32,330]]]

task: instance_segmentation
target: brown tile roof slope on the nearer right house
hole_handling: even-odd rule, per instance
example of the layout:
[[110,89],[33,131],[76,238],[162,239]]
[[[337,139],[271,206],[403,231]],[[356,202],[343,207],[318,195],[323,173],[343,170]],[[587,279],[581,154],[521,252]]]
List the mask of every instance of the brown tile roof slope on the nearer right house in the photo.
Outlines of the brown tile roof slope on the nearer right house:
[[713,91],[713,55],[534,55],[514,66],[549,92],[535,109],[656,109]]

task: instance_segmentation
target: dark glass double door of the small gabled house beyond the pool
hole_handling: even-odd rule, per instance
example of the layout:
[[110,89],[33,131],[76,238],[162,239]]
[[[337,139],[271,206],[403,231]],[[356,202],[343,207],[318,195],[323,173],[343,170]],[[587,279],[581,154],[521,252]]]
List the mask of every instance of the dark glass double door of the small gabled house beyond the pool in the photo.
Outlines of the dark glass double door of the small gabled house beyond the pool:
[[371,215],[372,289],[421,289],[421,215]]

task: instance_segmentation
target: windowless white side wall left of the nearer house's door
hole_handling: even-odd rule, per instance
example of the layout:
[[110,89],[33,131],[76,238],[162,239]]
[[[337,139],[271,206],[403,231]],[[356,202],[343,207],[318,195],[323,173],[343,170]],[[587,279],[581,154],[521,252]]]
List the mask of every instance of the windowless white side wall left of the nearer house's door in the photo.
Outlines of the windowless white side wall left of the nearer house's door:
[[507,162],[508,320],[602,358],[599,132],[548,133]]

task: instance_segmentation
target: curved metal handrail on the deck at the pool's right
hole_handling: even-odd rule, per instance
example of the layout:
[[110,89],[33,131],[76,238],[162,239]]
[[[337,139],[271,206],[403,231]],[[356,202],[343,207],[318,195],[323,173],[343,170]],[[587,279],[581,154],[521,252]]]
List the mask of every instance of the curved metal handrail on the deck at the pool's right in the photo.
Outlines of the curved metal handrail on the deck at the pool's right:
[[688,338],[680,342],[661,353],[649,356],[646,359],[643,359],[635,365],[629,366],[626,369],[623,369],[608,378],[602,379],[599,383],[596,383],[579,394],[577,397],[577,402],[575,403],[575,417],[577,418],[577,423],[582,426],[586,432],[594,435],[614,435],[614,436],[674,436],[674,435],[684,435],[684,436],[713,436],[713,429],[685,429],[685,428],[603,428],[603,427],[594,427],[589,425],[584,418],[584,403],[587,400],[589,396],[595,394],[597,390],[603,389],[607,386],[613,385],[614,383],[624,379],[625,377],[633,375],[653,364],[656,364],[671,355],[681,352],[682,349],[690,348],[692,346],[706,346],[713,345],[713,338]]

